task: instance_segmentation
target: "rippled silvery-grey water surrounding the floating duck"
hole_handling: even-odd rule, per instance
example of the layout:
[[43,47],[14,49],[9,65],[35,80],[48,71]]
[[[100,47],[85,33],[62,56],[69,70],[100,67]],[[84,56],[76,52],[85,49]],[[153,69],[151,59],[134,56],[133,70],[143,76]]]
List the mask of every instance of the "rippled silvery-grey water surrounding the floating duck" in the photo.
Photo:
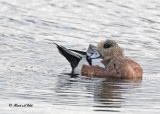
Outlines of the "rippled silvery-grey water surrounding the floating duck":
[[[159,0],[0,0],[0,6],[1,114],[160,112]],[[71,67],[51,40],[85,51],[106,38],[142,66],[142,80],[64,74]]]

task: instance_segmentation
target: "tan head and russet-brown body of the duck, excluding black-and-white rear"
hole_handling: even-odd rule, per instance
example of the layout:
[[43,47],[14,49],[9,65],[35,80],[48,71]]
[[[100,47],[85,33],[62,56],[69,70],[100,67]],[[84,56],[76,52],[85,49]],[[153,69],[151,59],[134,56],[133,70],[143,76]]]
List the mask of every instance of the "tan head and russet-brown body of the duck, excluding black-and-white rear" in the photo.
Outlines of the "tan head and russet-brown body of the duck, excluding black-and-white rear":
[[132,59],[124,56],[124,50],[114,40],[103,40],[98,43],[91,59],[102,58],[100,66],[83,65],[81,74],[96,78],[137,79],[142,78],[142,67]]

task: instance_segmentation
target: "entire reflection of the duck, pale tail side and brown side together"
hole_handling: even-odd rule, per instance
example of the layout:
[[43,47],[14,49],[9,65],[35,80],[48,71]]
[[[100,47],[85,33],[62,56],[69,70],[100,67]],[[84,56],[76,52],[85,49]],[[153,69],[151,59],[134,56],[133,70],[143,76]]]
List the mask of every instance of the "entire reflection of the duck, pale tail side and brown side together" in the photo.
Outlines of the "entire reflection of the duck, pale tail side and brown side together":
[[58,78],[56,99],[53,104],[83,105],[94,111],[117,112],[131,93],[141,86],[142,79],[122,80],[110,78],[88,78],[62,75]]

